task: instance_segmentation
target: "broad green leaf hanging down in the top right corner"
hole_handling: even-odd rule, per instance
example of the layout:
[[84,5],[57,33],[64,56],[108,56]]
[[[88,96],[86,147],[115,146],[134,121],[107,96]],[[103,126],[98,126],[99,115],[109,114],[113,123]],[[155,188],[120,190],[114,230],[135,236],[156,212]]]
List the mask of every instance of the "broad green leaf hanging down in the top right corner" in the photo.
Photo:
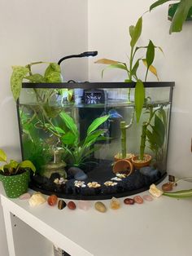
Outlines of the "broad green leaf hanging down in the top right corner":
[[177,7],[177,11],[172,19],[172,24],[169,29],[169,33],[180,32],[182,30],[183,23],[186,20],[188,12],[192,7],[192,0],[181,0]]

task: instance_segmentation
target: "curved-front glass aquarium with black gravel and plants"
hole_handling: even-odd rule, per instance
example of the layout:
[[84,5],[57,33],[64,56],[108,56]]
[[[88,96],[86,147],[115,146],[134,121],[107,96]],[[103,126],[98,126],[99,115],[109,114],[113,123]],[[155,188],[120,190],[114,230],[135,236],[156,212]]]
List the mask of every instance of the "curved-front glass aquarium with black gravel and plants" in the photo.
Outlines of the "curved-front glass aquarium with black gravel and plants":
[[144,86],[137,122],[135,83],[23,83],[17,102],[22,157],[37,168],[30,188],[98,200],[162,181],[174,82]]

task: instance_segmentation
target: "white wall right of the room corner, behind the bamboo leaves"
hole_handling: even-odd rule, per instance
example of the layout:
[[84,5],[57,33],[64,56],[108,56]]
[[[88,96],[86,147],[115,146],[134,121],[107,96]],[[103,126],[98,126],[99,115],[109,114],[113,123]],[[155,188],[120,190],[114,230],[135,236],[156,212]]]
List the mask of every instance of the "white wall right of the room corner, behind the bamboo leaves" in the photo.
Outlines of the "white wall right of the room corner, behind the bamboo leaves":
[[[127,61],[129,55],[129,25],[147,11],[151,0],[89,0],[89,49],[98,50],[98,59]],[[177,177],[192,176],[192,23],[184,25],[181,33],[168,34],[168,5],[144,15],[140,45],[151,39],[161,46],[164,55],[156,55],[155,67],[160,81],[175,81],[168,154],[168,172]],[[102,81],[103,65],[89,62],[89,80]],[[124,81],[121,70],[108,70],[103,81]],[[154,77],[151,77],[154,79]],[[150,79],[148,79],[149,81]]]

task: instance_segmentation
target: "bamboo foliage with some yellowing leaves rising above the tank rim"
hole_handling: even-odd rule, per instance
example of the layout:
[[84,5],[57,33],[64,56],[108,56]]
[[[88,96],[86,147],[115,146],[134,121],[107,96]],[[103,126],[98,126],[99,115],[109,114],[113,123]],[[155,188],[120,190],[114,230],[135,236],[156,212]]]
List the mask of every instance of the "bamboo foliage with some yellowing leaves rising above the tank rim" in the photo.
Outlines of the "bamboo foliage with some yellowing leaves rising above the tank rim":
[[[159,48],[160,51],[161,48],[154,45],[154,43],[150,40],[147,46],[137,46],[137,41],[141,37],[142,34],[142,17],[140,17],[137,20],[137,24],[135,26],[131,25],[129,27],[129,35],[131,38],[130,41],[130,56],[129,56],[129,64],[127,65],[124,62],[116,61],[116,60],[108,60],[108,59],[101,59],[96,61],[97,64],[107,64],[107,68],[120,68],[126,71],[128,78],[124,80],[124,82],[136,82],[135,86],[135,95],[134,95],[134,101],[135,101],[135,112],[136,112],[136,119],[137,122],[139,121],[142,113],[142,107],[145,100],[145,88],[142,82],[142,79],[137,76],[137,69],[139,67],[140,62],[146,66],[146,75],[145,75],[145,82],[147,79],[147,75],[149,71],[155,75],[158,79],[156,68],[152,65],[155,60],[155,48]],[[136,58],[137,52],[142,50],[146,50],[146,57],[143,59],[142,57]],[[106,68],[105,68],[106,69]],[[103,69],[103,72],[104,70]],[[102,72],[102,76],[103,76]],[[130,93],[131,90],[129,88],[128,92],[128,101],[130,102]]]

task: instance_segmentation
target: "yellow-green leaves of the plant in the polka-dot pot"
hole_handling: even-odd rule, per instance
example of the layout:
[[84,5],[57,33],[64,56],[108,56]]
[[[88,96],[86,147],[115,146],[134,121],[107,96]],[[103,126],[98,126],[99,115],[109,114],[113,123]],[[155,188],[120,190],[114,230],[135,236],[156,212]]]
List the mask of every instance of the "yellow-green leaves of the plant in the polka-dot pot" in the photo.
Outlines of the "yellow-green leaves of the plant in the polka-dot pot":
[[20,163],[15,160],[7,161],[7,154],[0,149],[0,162],[4,162],[5,165],[0,166],[1,174],[12,176],[24,172],[26,169],[30,169],[35,173],[36,168],[31,161],[25,160]]

